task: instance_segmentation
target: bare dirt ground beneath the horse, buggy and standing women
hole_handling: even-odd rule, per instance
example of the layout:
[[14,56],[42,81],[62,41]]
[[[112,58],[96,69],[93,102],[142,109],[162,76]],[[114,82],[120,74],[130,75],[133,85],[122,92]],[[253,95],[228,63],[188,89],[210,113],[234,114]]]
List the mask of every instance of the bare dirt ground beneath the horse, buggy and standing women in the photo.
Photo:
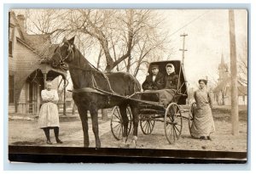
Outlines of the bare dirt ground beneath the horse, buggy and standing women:
[[[138,131],[137,149],[189,149],[211,151],[247,151],[247,113],[240,115],[239,135],[232,135],[229,113],[214,113],[216,132],[212,134],[212,141],[193,139],[189,134],[188,121],[183,120],[183,132],[175,144],[166,140],[163,123],[156,122],[154,131],[150,135],[143,135]],[[95,147],[94,135],[90,129],[90,147]],[[110,121],[100,121],[99,125],[102,148],[119,148],[120,141],[113,138],[110,131]],[[66,146],[83,147],[83,132],[79,118],[61,119],[60,138],[63,144],[55,143],[54,133],[50,132],[54,142],[45,143],[44,132],[38,129],[37,121],[9,121],[9,144],[33,146]],[[129,137],[128,143],[131,141]]]

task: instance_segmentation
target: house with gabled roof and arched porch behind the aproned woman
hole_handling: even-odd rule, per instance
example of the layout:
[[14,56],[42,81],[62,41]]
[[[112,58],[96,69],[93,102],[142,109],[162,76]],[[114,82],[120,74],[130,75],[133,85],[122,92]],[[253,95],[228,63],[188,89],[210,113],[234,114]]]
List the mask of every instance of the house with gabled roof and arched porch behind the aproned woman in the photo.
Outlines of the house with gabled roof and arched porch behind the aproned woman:
[[9,12],[9,114],[37,115],[45,82],[57,89],[67,71],[49,65],[56,48],[49,35],[29,35],[25,23],[24,15]]

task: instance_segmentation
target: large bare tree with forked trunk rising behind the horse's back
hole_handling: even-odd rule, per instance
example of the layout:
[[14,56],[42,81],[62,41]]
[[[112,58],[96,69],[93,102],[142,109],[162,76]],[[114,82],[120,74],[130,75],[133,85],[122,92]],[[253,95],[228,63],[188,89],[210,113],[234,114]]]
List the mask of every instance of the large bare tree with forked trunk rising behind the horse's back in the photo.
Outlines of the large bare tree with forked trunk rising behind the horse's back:
[[[126,71],[130,71],[131,65],[137,62],[138,70],[143,58],[155,48],[164,45],[168,38],[157,33],[160,20],[156,20],[156,14],[152,10],[86,9],[72,13],[79,17],[69,20],[72,22],[69,26],[75,32],[96,38],[104,52],[107,71],[113,70],[121,62],[124,62]],[[135,55],[139,53],[138,47],[143,52],[141,55]]]

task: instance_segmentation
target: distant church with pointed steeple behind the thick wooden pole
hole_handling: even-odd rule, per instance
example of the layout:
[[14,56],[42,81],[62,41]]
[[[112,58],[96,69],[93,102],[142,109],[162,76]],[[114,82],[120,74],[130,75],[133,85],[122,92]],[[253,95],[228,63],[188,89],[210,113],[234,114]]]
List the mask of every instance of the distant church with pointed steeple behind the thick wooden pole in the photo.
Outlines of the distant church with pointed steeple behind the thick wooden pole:
[[[214,88],[214,103],[218,105],[231,105],[231,87],[229,67],[224,63],[224,56],[221,56],[221,62],[218,65],[218,85]],[[238,104],[247,105],[247,86],[241,81],[238,85]]]

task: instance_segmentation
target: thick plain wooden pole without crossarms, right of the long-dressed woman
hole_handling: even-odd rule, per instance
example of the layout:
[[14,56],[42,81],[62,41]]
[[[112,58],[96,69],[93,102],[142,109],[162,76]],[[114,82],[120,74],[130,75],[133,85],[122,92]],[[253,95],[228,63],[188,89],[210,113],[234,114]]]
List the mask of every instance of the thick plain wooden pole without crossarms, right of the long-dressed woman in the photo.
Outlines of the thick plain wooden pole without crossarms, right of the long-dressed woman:
[[231,119],[232,134],[238,135],[238,103],[237,103],[237,68],[236,68],[236,33],[234,10],[229,10],[230,23],[230,70],[231,70]]

